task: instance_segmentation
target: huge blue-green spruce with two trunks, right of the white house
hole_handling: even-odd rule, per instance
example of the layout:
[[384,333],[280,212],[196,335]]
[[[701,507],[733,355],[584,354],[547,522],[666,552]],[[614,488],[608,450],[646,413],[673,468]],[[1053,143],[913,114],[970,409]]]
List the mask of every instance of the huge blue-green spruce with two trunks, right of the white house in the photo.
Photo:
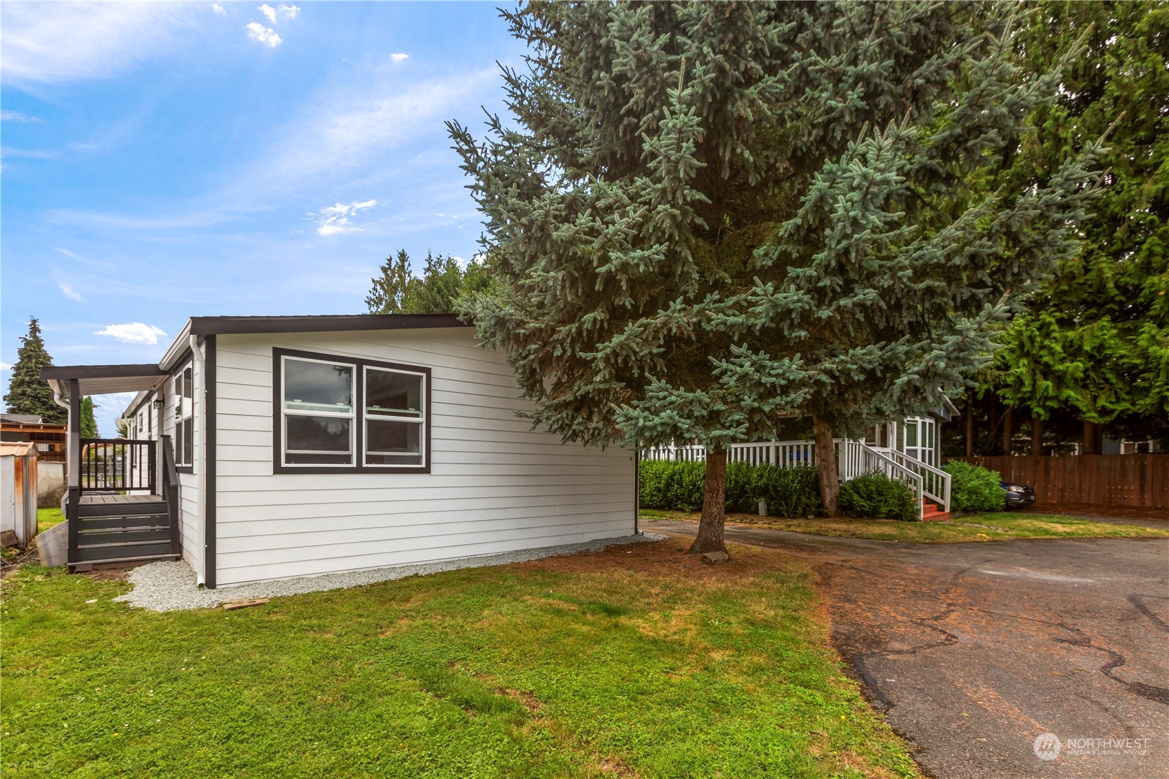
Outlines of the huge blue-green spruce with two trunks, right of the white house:
[[1011,49],[1016,7],[530,4],[514,122],[450,130],[496,284],[480,338],[566,440],[707,447],[691,551],[722,549],[726,447],[936,408],[987,324],[1074,247],[1085,160],[1025,191],[1010,160],[1057,92]]

